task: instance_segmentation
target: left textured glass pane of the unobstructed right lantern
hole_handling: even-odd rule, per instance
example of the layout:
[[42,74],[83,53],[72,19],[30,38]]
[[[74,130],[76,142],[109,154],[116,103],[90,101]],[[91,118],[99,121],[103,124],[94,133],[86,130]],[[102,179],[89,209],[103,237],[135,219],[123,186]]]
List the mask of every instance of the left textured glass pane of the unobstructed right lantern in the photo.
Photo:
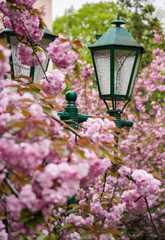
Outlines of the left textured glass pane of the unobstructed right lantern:
[[101,95],[110,94],[110,50],[94,52],[95,66]]

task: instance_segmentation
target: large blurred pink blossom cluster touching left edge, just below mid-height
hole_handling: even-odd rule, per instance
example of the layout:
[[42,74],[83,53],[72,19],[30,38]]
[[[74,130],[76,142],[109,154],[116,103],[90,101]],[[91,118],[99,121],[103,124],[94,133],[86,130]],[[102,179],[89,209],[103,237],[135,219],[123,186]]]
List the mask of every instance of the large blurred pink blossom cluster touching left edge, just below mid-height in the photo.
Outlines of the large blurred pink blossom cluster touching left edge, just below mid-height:
[[49,153],[50,141],[16,143],[12,135],[5,133],[0,139],[1,160],[17,172],[30,173]]

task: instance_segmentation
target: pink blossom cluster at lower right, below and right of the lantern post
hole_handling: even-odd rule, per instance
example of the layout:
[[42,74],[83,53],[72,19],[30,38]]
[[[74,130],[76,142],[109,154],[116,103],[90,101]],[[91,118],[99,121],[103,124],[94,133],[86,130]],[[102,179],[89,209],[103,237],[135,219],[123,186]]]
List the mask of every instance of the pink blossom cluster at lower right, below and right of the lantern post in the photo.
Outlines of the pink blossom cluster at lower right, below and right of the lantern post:
[[152,174],[143,169],[131,171],[126,166],[122,166],[118,173],[120,177],[132,180],[130,190],[124,191],[122,194],[122,200],[126,203],[127,210],[144,211],[146,209],[144,198],[147,198],[150,206],[155,202],[154,194],[159,192],[161,182]]

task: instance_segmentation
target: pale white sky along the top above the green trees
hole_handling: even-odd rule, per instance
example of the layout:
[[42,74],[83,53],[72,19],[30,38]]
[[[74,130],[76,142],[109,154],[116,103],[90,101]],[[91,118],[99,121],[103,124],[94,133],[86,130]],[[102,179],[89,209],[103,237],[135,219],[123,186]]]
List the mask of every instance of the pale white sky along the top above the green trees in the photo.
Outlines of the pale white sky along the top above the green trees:
[[[65,9],[70,8],[73,6],[75,9],[81,8],[81,6],[85,3],[98,3],[101,2],[101,0],[52,0],[53,1],[53,20],[55,17],[61,17]],[[103,2],[108,2],[110,0],[102,0]],[[116,2],[117,0],[113,0],[113,2]],[[165,0],[154,0],[155,7],[159,9],[165,10]],[[165,18],[164,18],[165,19]]]

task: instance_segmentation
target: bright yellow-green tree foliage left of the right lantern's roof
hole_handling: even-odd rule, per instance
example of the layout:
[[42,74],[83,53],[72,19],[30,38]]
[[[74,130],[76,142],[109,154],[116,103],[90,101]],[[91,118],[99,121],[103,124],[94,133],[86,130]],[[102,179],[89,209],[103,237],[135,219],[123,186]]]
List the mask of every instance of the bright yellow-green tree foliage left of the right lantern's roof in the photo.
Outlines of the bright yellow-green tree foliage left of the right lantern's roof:
[[112,20],[117,18],[118,7],[113,2],[84,4],[78,11],[74,8],[66,10],[63,17],[57,17],[53,23],[54,34],[67,33],[71,40],[82,41],[80,51],[87,62],[91,57],[87,47],[91,46],[96,34],[103,34]]

